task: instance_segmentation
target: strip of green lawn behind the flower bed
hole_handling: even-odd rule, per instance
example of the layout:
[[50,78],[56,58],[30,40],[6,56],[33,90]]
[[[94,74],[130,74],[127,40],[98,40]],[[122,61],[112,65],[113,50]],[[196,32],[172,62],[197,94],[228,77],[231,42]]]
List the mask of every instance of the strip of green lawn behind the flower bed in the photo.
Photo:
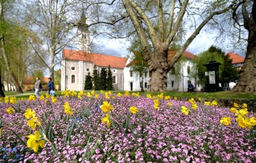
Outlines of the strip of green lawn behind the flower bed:
[[[86,90],[84,92],[90,92],[91,90]],[[108,90],[106,90],[108,91]],[[99,94],[99,90],[95,91],[95,93]],[[112,91],[113,93],[117,94],[118,92],[124,94],[125,91]],[[137,91],[136,91],[137,92]],[[34,91],[24,92],[24,94],[34,94]],[[61,91],[55,91],[56,96],[61,96]],[[141,96],[146,96],[150,93],[152,96],[156,96],[160,94],[160,92],[140,92]],[[28,98],[30,95],[19,95],[19,92],[4,92],[6,96],[15,96],[17,99],[21,98]],[[44,95],[47,94],[47,91],[40,92],[40,94]],[[130,92],[132,94],[132,92]],[[171,97],[178,97],[178,98],[204,98],[204,99],[254,99],[256,100],[256,94],[249,94],[249,93],[234,93],[232,91],[222,91],[222,92],[164,92],[164,96],[171,96]]]

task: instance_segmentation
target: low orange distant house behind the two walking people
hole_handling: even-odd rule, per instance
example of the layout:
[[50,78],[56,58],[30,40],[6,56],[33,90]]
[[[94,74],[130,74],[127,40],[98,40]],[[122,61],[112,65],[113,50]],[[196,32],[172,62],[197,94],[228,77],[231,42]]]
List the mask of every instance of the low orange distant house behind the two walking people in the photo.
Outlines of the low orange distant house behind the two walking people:
[[[43,79],[40,78],[40,81],[42,83],[43,90],[47,90],[47,85],[48,85],[48,78],[49,77],[44,77]],[[28,91],[28,90],[35,90],[35,82],[36,78],[33,76],[26,76],[22,80],[22,90]]]

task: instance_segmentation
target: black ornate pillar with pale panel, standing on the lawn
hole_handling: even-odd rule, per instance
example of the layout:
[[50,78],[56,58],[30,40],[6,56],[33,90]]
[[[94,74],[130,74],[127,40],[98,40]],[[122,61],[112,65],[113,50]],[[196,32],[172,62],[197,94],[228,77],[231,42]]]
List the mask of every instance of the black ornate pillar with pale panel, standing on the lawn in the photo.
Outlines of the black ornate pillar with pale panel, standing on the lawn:
[[216,60],[211,60],[208,64],[204,64],[206,67],[206,80],[204,90],[205,92],[216,92],[220,91],[219,87],[219,66],[221,63],[216,62]]

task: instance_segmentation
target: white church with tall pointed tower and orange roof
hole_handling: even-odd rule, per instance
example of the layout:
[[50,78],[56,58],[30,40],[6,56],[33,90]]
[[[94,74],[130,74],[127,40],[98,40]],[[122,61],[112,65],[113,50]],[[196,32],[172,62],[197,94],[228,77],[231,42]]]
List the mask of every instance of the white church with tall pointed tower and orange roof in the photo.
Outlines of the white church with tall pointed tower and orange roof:
[[61,61],[61,90],[84,90],[85,76],[96,67],[98,74],[102,68],[108,70],[108,66],[113,75],[113,88],[124,90],[124,67],[127,59],[115,57],[102,53],[90,52],[90,38],[88,25],[84,12],[78,24],[76,32],[77,50],[64,49]]

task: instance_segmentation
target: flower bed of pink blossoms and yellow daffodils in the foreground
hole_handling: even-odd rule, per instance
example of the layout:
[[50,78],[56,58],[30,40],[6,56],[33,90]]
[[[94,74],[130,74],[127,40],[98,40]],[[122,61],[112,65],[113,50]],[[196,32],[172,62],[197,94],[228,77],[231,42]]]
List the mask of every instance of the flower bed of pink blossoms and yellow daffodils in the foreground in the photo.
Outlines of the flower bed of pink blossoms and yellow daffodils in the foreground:
[[255,113],[246,104],[63,95],[0,102],[0,162],[256,162]]

